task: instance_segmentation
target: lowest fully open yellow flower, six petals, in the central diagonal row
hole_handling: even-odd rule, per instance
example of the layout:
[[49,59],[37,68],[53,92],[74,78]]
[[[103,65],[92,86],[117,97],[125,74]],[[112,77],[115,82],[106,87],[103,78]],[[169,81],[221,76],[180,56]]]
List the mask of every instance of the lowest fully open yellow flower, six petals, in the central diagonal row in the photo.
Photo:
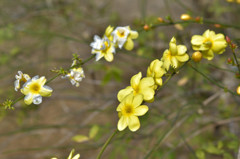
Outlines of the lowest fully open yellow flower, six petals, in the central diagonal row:
[[117,111],[119,112],[118,130],[122,131],[127,126],[131,131],[137,131],[140,128],[138,116],[146,114],[148,106],[141,105],[143,96],[133,93],[126,96],[123,101],[118,105]]

